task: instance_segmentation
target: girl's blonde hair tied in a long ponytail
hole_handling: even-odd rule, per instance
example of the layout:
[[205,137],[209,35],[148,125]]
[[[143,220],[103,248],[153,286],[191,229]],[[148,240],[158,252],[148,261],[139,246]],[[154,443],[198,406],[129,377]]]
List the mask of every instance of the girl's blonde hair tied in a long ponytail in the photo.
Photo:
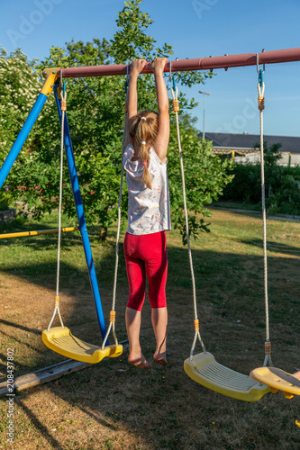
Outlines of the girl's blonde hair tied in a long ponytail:
[[146,186],[151,189],[151,177],[148,170],[150,161],[149,151],[147,149],[147,140],[154,140],[159,132],[159,114],[154,111],[141,111],[133,118],[129,134],[136,145],[141,145],[141,160],[144,165],[142,179]]

